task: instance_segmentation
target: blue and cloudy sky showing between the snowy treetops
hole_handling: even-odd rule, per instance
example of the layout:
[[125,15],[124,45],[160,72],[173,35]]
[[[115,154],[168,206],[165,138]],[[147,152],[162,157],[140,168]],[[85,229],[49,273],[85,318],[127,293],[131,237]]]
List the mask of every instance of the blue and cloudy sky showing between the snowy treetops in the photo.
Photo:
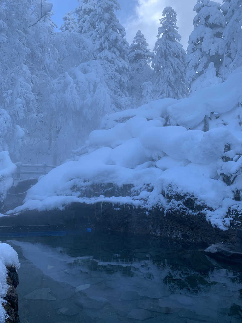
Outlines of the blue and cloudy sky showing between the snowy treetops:
[[[55,13],[52,19],[58,27],[63,23],[62,17],[66,12],[74,10],[79,4],[77,0],[61,2],[52,0],[51,2],[54,4]],[[197,0],[119,0],[119,3],[121,10],[116,12],[116,16],[126,29],[126,39],[129,44],[132,43],[137,30],[140,29],[146,37],[149,48],[153,50],[162,11],[166,6],[172,6],[177,13],[178,32],[182,36],[181,43],[184,49],[187,49],[187,41],[193,30],[195,16],[193,7]]]

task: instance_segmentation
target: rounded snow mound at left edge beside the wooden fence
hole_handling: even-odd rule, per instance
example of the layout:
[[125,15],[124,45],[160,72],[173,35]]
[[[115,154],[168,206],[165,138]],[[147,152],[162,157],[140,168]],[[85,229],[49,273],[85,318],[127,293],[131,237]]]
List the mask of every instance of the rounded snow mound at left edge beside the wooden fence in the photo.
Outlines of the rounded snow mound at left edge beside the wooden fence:
[[13,173],[16,170],[12,163],[8,151],[0,152],[0,203],[6,197],[7,191],[13,185]]

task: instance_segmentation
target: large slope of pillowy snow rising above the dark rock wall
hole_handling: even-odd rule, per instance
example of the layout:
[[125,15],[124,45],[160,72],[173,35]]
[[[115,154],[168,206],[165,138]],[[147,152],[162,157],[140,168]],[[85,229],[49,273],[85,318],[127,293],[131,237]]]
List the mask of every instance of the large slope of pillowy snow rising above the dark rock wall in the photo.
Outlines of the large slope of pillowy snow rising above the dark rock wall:
[[[180,194],[207,206],[207,220],[225,230],[232,220],[226,215],[228,207],[242,209],[241,202],[233,200],[234,191],[242,189],[241,89],[239,68],[224,83],[190,98],[160,99],[106,116],[102,129],[90,133],[73,160],[42,177],[14,212],[62,208],[77,201],[179,209],[173,196]],[[228,145],[230,151],[224,152]],[[222,160],[225,155],[230,161]],[[237,177],[227,186],[221,173]],[[129,196],[119,196],[125,195],[122,190],[113,197],[86,193],[94,184],[105,183],[130,185]]]

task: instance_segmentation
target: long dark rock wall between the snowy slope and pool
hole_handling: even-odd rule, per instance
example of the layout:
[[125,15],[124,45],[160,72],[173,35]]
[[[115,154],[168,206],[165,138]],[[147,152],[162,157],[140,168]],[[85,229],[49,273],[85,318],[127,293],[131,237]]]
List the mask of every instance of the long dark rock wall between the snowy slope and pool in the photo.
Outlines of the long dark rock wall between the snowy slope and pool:
[[[234,243],[237,232],[231,227],[222,231],[212,227],[201,212],[194,213],[166,211],[154,207],[152,210],[136,208],[133,205],[112,203],[72,203],[65,210],[36,210],[22,212],[15,216],[0,218],[1,226],[18,225],[66,225],[78,224],[83,228],[100,231],[119,231],[133,234],[148,234],[163,238],[182,239],[187,242],[206,243],[207,245],[227,242]],[[237,225],[237,228],[240,228]]]

